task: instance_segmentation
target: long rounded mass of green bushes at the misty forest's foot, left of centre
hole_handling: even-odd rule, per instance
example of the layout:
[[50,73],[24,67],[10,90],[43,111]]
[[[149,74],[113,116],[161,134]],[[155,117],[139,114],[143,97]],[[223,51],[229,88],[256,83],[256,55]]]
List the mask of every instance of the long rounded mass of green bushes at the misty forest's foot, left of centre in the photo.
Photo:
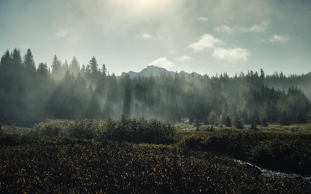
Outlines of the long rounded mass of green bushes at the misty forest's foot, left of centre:
[[127,118],[99,121],[94,119],[47,120],[34,125],[37,135],[98,138],[128,142],[173,143],[178,140],[177,130],[170,123],[156,119]]

